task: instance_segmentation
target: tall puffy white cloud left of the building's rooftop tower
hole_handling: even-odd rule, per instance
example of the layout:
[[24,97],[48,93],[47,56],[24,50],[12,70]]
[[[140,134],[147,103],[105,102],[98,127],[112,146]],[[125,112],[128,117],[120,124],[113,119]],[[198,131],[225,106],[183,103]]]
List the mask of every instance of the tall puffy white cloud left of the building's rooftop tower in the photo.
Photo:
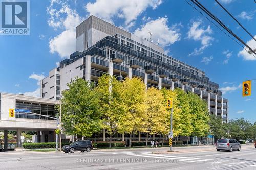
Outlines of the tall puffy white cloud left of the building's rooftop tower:
[[[54,4],[60,5],[60,9],[55,9]],[[57,7],[56,7],[57,8]],[[65,2],[52,0],[50,7],[47,8],[50,15],[48,25],[54,30],[63,29],[64,31],[53,37],[49,41],[50,52],[58,53],[60,57],[69,57],[75,51],[76,26],[84,19],[79,16]]]

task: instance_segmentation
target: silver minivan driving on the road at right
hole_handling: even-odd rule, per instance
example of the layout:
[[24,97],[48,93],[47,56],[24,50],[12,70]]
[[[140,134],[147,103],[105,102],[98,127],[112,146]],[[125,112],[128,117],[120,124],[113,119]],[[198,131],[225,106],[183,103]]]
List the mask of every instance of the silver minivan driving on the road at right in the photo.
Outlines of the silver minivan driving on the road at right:
[[241,144],[236,139],[219,139],[216,143],[217,151],[220,150],[241,150]]

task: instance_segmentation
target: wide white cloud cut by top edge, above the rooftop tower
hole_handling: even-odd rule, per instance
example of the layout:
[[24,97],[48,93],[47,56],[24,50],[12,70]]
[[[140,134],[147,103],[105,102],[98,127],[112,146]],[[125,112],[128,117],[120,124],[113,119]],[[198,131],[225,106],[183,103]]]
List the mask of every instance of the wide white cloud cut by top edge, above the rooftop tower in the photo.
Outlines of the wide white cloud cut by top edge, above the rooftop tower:
[[125,19],[125,25],[137,19],[147,8],[155,9],[162,0],[96,0],[86,4],[89,15],[114,23],[113,18]]

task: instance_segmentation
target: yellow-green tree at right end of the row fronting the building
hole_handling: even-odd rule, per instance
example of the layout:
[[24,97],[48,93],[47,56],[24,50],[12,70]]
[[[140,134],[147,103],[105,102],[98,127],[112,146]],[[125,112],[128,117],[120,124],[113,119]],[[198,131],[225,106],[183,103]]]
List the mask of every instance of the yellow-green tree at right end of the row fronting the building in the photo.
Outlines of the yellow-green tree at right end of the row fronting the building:
[[[189,105],[191,108],[193,135],[197,137],[206,137],[209,132],[209,112],[205,101],[193,93],[188,93]],[[198,143],[198,141],[197,141]]]

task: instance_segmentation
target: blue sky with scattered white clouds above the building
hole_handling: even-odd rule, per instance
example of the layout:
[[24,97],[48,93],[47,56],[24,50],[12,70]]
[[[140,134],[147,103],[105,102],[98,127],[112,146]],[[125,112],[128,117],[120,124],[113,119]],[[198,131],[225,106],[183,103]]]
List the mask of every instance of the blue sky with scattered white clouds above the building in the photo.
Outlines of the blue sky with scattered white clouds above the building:
[[[256,35],[253,0],[219,0]],[[251,47],[256,41],[214,0],[200,1]],[[252,96],[242,98],[241,83],[256,79],[256,58],[249,55],[185,0],[30,1],[30,35],[0,36],[0,91],[39,95],[39,80],[75,51],[75,27],[91,14],[138,36],[152,32],[153,43],[168,55],[206,72],[229,100],[229,117],[256,121],[256,83]],[[255,89],[255,90],[254,90]]]

